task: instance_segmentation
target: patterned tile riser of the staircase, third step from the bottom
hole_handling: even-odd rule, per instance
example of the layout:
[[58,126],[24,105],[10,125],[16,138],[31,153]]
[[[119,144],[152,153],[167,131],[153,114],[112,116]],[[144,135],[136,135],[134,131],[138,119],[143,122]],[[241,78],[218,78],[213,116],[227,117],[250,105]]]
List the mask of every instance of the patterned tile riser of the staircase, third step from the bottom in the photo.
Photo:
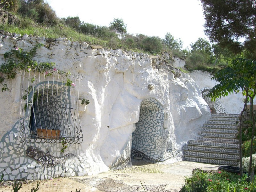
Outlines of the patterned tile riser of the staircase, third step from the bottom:
[[239,149],[188,145],[188,150],[239,154]]

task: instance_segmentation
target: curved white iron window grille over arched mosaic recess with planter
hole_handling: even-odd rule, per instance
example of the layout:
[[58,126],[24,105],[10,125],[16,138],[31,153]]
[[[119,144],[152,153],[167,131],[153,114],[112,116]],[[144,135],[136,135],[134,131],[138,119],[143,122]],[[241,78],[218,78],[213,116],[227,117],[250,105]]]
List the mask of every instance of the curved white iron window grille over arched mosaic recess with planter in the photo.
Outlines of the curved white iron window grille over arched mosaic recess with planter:
[[[72,86],[67,86],[70,79]],[[81,143],[79,119],[81,75],[44,69],[23,71],[21,78],[20,142]]]

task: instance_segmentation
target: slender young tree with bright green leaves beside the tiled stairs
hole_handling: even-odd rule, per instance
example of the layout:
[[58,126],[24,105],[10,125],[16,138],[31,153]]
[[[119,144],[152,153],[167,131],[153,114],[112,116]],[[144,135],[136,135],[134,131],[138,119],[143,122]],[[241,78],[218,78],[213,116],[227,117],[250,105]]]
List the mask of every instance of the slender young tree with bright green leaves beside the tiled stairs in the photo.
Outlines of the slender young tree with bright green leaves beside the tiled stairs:
[[[216,99],[218,97],[228,96],[230,93],[238,93],[240,90],[243,94],[250,98],[251,106],[253,106],[253,99],[256,95],[256,61],[251,59],[238,58],[233,60],[232,65],[219,70],[214,74],[212,79],[219,82],[212,89],[210,89],[207,96]],[[244,109],[245,109],[244,104]],[[243,112],[243,111],[242,111]],[[241,113],[242,113],[241,112]],[[255,116],[253,115],[252,108],[250,109],[252,118],[252,137],[251,137],[251,149],[250,149],[250,165],[249,165],[249,176],[251,175],[252,167],[252,148],[253,148],[253,137],[255,131]],[[240,120],[241,121],[241,120]],[[240,145],[241,143],[241,127],[240,127]],[[240,149],[241,150],[241,149]],[[240,154],[240,157],[242,155]],[[241,158],[240,158],[241,159]],[[242,165],[240,165],[242,166]],[[242,172],[242,168],[240,168]],[[252,180],[252,178],[251,178]]]

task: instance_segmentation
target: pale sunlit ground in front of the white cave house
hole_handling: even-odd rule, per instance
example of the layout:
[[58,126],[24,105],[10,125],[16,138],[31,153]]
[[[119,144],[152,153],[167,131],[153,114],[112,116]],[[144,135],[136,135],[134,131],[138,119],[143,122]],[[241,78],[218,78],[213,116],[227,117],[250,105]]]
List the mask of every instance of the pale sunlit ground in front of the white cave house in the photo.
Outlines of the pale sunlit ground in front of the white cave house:
[[[109,171],[92,176],[55,178],[25,182],[19,192],[30,192],[40,182],[38,192],[175,192],[184,184],[192,170],[217,170],[219,165],[181,161],[172,164],[152,164],[143,160],[132,160],[132,167]],[[143,185],[143,186],[142,186]],[[3,186],[0,192],[11,192],[12,186]]]

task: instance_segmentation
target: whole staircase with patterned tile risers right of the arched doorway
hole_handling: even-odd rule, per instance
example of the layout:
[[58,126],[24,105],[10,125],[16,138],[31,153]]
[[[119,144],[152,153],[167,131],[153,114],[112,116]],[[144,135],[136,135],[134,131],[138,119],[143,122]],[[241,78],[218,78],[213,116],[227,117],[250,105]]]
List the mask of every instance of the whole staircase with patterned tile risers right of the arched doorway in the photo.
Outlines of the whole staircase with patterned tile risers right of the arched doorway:
[[187,161],[219,165],[239,164],[239,140],[237,123],[239,115],[212,114],[199,132],[197,140],[188,141],[184,148]]

